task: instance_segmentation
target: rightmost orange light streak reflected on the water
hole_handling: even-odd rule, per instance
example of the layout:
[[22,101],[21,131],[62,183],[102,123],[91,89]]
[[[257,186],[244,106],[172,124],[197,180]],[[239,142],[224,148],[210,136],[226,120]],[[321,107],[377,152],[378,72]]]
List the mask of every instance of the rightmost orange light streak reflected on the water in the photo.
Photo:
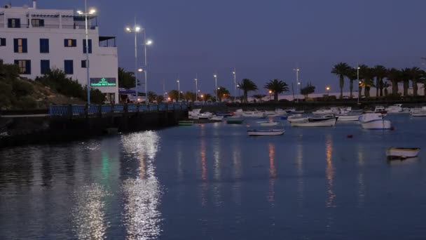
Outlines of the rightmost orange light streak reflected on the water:
[[331,156],[333,154],[333,142],[331,140],[331,135],[326,135],[325,139],[325,154],[326,154],[326,168],[325,175],[327,180],[327,201],[325,206],[327,208],[335,207],[334,199],[336,194],[334,194],[334,167],[333,161],[331,161]]

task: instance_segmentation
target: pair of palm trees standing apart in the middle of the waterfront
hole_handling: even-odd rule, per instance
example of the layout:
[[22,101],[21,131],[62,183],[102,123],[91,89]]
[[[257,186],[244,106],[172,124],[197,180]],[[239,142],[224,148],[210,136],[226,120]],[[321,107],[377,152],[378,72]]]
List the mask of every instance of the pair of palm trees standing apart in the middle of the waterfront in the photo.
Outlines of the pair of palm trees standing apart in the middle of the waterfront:
[[[243,91],[242,100],[247,102],[247,96],[250,91],[257,91],[259,88],[250,79],[242,79],[241,83],[237,85]],[[263,86],[263,88],[271,91],[274,94],[274,100],[278,100],[278,94],[289,91],[289,85],[280,79],[273,79]]]

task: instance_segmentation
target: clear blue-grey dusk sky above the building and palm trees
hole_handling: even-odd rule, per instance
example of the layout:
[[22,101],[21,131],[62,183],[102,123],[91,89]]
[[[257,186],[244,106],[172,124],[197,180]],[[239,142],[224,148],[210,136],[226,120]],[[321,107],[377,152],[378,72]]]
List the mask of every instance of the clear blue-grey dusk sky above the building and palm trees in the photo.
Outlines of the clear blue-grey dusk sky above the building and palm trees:
[[[84,1],[39,0],[38,6],[77,10]],[[295,67],[303,85],[312,82],[316,93],[327,85],[338,91],[338,78],[330,74],[337,62],[424,67],[420,57],[426,55],[424,0],[90,0],[88,6],[97,8],[100,34],[117,36],[118,65],[129,71],[134,35],[124,27],[137,16],[154,41],[148,87],[157,93],[163,79],[166,91],[177,89],[178,74],[181,91],[194,91],[195,73],[199,89],[213,93],[217,72],[218,85],[233,94],[233,67],[238,81],[252,79],[259,93],[266,93],[269,79],[295,82]]]

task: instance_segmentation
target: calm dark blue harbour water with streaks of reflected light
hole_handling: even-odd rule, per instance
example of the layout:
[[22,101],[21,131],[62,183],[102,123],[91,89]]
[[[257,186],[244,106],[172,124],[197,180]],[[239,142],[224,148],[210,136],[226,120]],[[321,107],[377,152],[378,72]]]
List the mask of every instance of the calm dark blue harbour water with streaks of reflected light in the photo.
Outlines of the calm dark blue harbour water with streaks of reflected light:
[[[0,150],[0,239],[426,239],[426,119],[204,124]],[[348,134],[354,138],[346,138]],[[420,157],[385,160],[390,146]]]

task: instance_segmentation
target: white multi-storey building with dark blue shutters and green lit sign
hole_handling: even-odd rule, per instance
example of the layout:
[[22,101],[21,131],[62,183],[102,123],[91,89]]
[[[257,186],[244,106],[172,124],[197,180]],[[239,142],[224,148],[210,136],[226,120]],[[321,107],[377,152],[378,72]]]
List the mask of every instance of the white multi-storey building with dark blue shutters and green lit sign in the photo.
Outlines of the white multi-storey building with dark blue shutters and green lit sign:
[[[115,37],[99,36],[97,18],[88,18],[90,86],[118,102]],[[21,76],[35,79],[57,68],[86,85],[85,49],[85,18],[73,10],[38,9],[36,1],[0,8],[0,59],[19,65]]]

